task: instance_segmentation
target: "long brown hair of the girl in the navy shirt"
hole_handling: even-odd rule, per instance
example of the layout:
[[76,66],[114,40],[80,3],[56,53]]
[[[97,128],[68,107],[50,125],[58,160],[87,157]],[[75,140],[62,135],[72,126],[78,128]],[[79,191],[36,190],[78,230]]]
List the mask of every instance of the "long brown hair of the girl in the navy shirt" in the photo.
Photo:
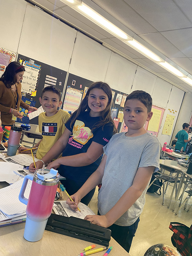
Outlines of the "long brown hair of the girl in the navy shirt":
[[102,129],[103,129],[105,124],[112,124],[113,125],[113,134],[115,134],[117,132],[117,129],[116,129],[113,119],[111,117],[112,92],[111,92],[111,88],[109,87],[109,85],[104,82],[95,82],[95,83],[91,84],[91,86],[87,90],[87,93],[86,93],[84,99],[81,101],[79,107],[72,114],[70,127],[72,128],[72,124],[75,122],[77,116],[79,116],[81,113],[84,113],[85,111],[90,112],[91,109],[88,106],[88,96],[89,96],[90,91],[94,88],[101,89],[101,90],[103,90],[103,92],[105,92],[107,94],[108,104],[107,104],[107,107],[101,112],[100,121],[93,125],[92,131],[99,127],[102,127]]

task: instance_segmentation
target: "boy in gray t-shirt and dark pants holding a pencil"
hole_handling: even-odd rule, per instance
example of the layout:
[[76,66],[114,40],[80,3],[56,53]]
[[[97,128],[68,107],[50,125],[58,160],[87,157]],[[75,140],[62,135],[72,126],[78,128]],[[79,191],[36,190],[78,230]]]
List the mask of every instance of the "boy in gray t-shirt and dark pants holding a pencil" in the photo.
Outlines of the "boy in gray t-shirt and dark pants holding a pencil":
[[[145,194],[153,172],[159,170],[161,144],[144,129],[153,115],[151,96],[134,91],[124,104],[124,122],[128,132],[113,135],[103,148],[104,157],[98,169],[84,185],[68,198],[69,206],[77,211],[77,204],[100,182],[98,214],[85,220],[111,229],[111,236],[129,252],[139,216],[145,204]],[[101,216],[100,216],[101,215]]]

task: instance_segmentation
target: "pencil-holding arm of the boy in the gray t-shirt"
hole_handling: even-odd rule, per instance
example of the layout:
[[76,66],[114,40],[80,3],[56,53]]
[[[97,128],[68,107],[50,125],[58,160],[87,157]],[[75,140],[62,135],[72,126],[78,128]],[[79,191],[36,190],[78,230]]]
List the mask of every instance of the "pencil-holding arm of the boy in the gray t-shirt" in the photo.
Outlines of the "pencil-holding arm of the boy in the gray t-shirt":
[[107,156],[104,155],[97,170],[93,172],[92,175],[83,184],[83,186],[79,188],[79,190],[74,195],[71,196],[75,202],[75,205],[69,198],[67,199],[67,204],[71,207],[71,209],[77,211],[77,204],[81,201],[81,199],[101,182],[106,161]]

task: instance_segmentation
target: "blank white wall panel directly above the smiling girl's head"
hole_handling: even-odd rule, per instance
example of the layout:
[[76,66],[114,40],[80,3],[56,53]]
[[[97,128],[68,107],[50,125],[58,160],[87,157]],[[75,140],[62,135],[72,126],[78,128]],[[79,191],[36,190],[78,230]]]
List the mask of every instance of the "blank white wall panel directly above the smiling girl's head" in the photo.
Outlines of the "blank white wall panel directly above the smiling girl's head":
[[91,81],[104,81],[110,55],[110,50],[78,32],[69,73]]

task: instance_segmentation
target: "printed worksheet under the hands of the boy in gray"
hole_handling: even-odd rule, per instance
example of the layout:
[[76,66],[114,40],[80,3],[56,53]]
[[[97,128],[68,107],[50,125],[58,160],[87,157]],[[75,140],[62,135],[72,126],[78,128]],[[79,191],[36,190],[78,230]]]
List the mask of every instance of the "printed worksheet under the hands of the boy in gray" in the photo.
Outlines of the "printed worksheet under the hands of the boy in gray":
[[66,201],[55,201],[53,204],[53,211],[58,215],[65,217],[73,216],[79,219],[84,219],[87,215],[95,215],[95,213],[85,204],[79,203],[78,207],[81,212],[72,210],[68,204],[66,204]]

